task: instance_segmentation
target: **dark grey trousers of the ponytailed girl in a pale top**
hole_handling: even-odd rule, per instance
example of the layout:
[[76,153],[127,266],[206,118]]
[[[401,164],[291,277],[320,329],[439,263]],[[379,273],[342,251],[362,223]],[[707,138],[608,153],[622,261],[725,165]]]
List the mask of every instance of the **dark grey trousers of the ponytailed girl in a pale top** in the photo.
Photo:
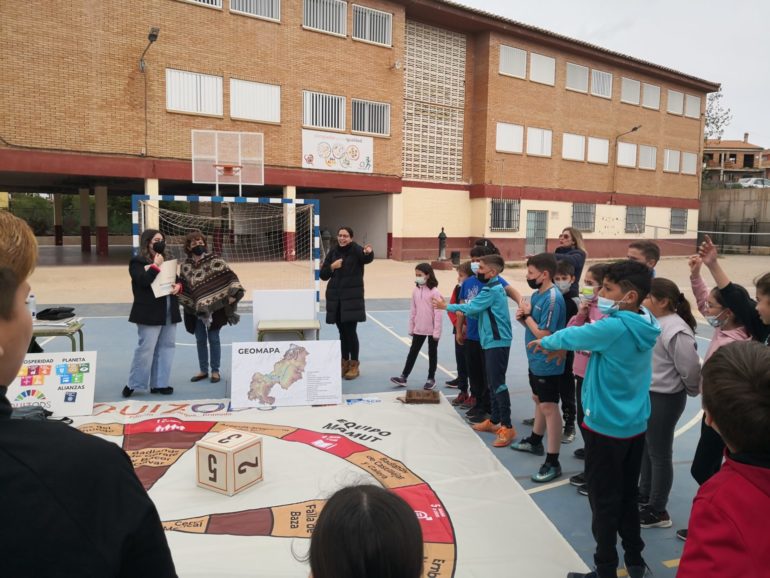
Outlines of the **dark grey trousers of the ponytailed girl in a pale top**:
[[649,498],[650,507],[663,512],[674,483],[674,429],[687,403],[685,390],[677,393],[650,392],[650,419],[647,420],[642,478],[639,493]]

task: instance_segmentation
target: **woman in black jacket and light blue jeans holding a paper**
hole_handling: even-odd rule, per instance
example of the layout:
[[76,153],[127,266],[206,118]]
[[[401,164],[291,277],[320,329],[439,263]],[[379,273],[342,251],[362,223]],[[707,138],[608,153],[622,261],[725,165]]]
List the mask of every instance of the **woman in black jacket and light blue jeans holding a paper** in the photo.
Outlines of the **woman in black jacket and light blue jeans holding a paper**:
[[128,272],[131,275],[131,291],[134,303],[128,320],[136,323],[139,344],[131,361],[128,385],[123,397],[131,397],[136,390],[170,395],[171,364],[174,361],[176,324],[182,320],[176,295],[182,285],[176,283],[171,295],[155,297],[152,282],[160,273],[164,261],[166,240],[163,233],[147,229],[139,240],[139,254],[131,258]]

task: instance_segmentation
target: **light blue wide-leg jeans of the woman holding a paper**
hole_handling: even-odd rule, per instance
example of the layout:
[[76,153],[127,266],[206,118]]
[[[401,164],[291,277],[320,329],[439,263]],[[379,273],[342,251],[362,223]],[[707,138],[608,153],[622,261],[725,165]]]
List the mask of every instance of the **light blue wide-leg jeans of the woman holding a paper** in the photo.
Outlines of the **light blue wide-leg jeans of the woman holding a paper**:
[[134,351],[128,387],[147,391],[148,387],[169,387],[171,364],[174,362],[176,323],[136,326],[139,344]]

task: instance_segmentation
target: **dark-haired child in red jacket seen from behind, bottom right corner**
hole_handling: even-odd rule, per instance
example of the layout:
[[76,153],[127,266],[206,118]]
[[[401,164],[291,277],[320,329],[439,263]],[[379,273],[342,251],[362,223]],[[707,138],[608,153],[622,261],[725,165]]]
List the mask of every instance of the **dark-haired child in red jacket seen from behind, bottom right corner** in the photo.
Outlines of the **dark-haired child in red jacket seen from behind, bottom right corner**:
[[767,576],[770,569],[770,349],[720,347],[703,366],[706,423],[725,441],[722,469],[698,490],[678,578]]

